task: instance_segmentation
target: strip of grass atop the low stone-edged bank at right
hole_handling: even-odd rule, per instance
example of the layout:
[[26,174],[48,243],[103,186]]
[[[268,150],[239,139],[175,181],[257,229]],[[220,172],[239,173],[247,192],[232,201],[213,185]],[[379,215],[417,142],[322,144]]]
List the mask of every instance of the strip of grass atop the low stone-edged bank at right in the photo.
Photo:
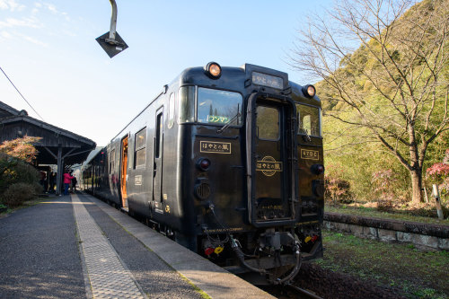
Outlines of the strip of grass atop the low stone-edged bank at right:
[[[346,215],[361,215],[381,219],[393,219],[393,220],[405,220],[411,222],[419,222],[424,224],[445,224],[449,225],[449,219],[439,220],[433,217],[424,217],[418,215],[408,215],[404,213],[389,213],[378,211],[374,207],[350,207],[350,206],[326,206],[324,207],[325,212],[346,214]],[[436,211],[435,211],[436,214]]]

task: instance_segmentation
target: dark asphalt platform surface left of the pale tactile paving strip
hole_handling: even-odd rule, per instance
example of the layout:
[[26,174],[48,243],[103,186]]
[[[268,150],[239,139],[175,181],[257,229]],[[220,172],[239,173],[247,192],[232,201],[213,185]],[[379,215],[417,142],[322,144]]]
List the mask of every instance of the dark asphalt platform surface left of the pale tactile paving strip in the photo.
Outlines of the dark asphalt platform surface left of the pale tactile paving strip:
[[0,298],[85,298],[70,197],[0,219]]

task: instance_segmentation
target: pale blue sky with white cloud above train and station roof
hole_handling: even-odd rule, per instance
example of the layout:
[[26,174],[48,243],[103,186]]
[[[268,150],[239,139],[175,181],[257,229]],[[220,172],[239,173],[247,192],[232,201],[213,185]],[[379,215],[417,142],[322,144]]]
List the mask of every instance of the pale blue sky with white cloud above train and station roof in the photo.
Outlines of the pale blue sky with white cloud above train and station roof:
[[110,30],[109,0],[0,0],[0,101],[107,145],[191,66],[250,63],[289,74],[306,17],[331,0],[116,0],[129,46],[110,58],[95,40]]

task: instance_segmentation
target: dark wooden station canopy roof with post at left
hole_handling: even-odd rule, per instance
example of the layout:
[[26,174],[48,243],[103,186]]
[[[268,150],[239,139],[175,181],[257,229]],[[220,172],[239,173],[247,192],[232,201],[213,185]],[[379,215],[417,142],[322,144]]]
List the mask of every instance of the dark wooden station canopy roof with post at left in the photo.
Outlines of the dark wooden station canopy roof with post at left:
[[91,139],[33,119],[26,110],[15,110],[0,101],[0,143],[22,136],[41,137],[33,144],[39,152],[36,163],[57,164],[57,193],[64,166],[83,163],[96,145]]

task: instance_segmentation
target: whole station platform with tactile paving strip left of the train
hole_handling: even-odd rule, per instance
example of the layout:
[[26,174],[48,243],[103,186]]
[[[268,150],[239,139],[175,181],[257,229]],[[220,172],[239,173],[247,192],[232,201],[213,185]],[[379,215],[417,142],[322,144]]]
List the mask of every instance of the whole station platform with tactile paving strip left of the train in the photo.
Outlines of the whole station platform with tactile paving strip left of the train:
[[0,219],[0,298],[274,298],[84,193]]

